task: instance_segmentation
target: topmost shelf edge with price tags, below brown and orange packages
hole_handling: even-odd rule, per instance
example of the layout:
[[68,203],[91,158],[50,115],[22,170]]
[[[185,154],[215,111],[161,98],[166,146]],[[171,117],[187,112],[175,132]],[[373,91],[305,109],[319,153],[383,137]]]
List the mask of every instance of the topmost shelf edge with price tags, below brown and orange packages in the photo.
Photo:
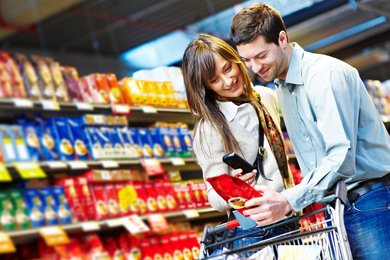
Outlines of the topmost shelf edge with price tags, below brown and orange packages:
[[10,118],[20,113],[42,115],[124,114],[130,122],[154,123],[156,121],[192,124],[189,109],[155,108],[150,106],[126,106],[73,102],[33,101],[29,99],[0,99],[0,117]]

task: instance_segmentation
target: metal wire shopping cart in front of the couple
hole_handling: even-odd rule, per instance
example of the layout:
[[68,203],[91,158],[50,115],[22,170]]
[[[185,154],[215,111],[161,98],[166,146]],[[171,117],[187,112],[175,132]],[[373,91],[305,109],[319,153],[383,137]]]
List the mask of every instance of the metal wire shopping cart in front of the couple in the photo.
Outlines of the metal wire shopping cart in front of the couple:
[[[200,259],[236,259],[239,253],[256,252],[250,259],[325,259],[349,260],[352,259],[347,234],[344,227],[344,205],[347,188],[344,182],[338,182],[333,195],[327,196],[322,203],[326,206],[303,216],[291,217],[278,223],[264,226],[267,231],[292,223],[320,212],[325,212],[326,219],[309,227],[297,228],[282,235],[274,236],[245,247],[224,250],[222,253],[211,255],[211,251],[236,239],[253,235],[225,239],[216,239],[219,233],[238,226],[236,221],[223,223],[218,226],[206,226],[201,238]],[[332,205],[332,206],[331,206]]]

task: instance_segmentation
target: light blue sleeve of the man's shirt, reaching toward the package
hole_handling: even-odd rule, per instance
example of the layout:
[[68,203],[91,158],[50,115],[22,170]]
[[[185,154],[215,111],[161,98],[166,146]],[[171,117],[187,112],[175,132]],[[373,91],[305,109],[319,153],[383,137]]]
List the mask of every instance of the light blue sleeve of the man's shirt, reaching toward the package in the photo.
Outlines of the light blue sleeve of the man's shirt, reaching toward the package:
[[[294,211],[321,201],[328,190],[340,179],[355,171],[354,151],[349,136],[356,130],[357,72],[353,69],[328,69],[315,75],[305,91],[314,117],[312,126],[323,141],[324,154],[317,167],[308,172],[302,182],[282,194]],[[312,122],[306,122],[311,124]]]

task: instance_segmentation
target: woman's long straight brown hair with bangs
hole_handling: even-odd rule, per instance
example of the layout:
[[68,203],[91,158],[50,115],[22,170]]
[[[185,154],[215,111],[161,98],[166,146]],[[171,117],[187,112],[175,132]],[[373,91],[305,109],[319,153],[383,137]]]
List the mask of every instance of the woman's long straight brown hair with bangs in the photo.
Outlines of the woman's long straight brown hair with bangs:
[[[208,86],[208,82],[214,77],[215,73],[214,53],[237,64],[240,68],[244,90],[236,101],[249,101],[258,111],[262,109],[257,100],[258,94],[252,87],[246,67],[238,53],[225,41],[212,35],[200,34],[197,39],[188,45],[182,61],[187,99],[196,123],[194,135],[202,132],[199,129],[204,122],[208,122],[222,137],[226,153],[241,152],[224,115],[218,108],[216,102],[218,95]],[[203,140],[203,138],[200,138],[200,140]],[[203,147],[202,144],[202,149]]]

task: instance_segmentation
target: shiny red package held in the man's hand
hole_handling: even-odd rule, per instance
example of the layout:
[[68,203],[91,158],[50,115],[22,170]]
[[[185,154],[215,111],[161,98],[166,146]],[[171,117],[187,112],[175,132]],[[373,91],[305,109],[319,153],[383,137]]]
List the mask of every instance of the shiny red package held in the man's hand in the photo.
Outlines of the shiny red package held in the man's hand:
[[241,213],[245,201],[262,196],[260,191],[255,190],[245,181],[228,174],[210,177],[206,181],[232,208],[237,209]]

